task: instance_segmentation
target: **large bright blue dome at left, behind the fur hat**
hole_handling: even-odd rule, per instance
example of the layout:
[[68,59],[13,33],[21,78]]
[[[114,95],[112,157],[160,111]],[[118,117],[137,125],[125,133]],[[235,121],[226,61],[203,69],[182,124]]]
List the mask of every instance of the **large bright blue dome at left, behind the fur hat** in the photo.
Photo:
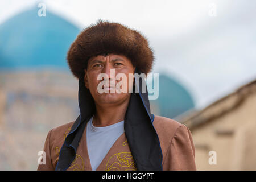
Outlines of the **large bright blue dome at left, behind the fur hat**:
[[39,17],[38,10],[0,24],[0,68],[68,68],[67,51],[79,28],[48,10]]

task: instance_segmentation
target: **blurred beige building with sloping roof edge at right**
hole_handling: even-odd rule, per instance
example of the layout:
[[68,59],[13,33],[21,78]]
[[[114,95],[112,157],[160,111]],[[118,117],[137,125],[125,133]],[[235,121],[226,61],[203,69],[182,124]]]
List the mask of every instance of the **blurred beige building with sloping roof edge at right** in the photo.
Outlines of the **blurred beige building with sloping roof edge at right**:
[[[256,80],[177,117],[192,132],[199,170],[256,170]],[[209,164],[216,152],[216,165]]]

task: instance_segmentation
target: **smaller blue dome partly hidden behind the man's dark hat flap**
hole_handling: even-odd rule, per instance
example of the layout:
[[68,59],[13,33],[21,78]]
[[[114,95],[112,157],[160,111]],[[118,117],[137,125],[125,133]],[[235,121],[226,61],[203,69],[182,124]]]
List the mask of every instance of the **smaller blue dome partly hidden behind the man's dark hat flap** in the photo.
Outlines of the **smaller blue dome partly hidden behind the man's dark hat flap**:
[[[152,82],[154,85],[154,81]],[[174,118],[195,107],[191,94],[179,82],[159,74],[159,97],[157,100],[150,100],[150,104],[158,107],[161,116]],[[152,110],[154,114],[154,110]]]

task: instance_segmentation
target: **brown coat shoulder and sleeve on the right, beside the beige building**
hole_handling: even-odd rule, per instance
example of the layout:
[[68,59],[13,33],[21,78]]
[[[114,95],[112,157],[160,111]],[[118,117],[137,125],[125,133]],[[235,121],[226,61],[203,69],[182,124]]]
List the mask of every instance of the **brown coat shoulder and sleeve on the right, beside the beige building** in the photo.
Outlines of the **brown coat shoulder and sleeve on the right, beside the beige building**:
[[187,126],[165,117],[153,122],[163,154],[163,170],[196,170],[195,146]]

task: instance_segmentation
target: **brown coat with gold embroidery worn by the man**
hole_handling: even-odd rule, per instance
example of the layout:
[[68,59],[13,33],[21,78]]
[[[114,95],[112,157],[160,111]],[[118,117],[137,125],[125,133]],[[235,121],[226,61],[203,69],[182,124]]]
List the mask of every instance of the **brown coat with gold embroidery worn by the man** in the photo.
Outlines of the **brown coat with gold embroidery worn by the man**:
[[[60,148],[72,125],[73,122],[70,122],[49,131],[44,143],[46,164],[39,164],[38,170],[55,170]],[[196,170],[195,147],[188,127],[160,116],[155,116],[153,125],[162,148],[163,170]],[[68,170],[92,170],[87,151],[86,128],[77,148],[76,158]],[[115,141],[96,170],[136,170],[125,133]]]

